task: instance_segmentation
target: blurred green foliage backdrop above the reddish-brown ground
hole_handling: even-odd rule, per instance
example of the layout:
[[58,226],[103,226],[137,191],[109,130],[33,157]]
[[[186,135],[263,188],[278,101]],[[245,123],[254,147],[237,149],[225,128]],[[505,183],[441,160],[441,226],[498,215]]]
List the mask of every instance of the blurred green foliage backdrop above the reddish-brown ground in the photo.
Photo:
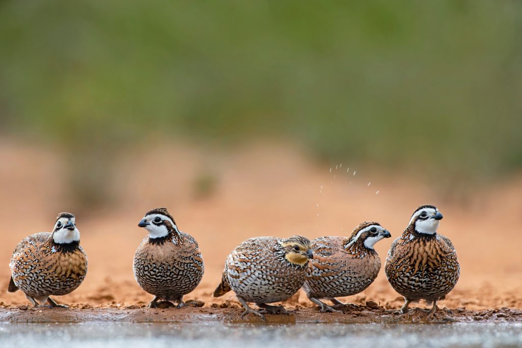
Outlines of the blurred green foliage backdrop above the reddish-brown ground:
[[460,182],[522,165],[522,2],[2,1],[0,50],[0,132],[98,163],[87,191],[151,137]]

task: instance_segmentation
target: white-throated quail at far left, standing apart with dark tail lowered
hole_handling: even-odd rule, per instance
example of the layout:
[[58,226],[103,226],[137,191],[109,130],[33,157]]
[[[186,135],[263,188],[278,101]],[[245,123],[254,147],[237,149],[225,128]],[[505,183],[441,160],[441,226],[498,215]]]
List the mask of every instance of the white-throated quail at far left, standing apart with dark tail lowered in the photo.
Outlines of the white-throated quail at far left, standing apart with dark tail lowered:
[[9,267],[8,292],[21,290],[34,307],[68,308],[50,296],[73,292],[87,274],[87,255],[80,246],[74,215],[60,213],[53,232],[40,232],[23,239],[16,246]]

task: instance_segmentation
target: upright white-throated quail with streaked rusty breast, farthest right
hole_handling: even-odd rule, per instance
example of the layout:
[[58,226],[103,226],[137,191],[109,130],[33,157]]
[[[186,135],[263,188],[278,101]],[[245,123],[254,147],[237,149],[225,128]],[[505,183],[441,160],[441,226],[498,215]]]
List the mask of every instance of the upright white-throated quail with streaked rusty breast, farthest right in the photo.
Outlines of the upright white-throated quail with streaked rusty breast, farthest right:
[[405,303],[399,313],[405,314],[411,302],[425,299],[433,303],[453,290],[460,277],[460,265],[453,243],[437,233],[443,215],[435,206],[424,205],[411,215],[406,230],[395,239],[385,263],[386,278]]

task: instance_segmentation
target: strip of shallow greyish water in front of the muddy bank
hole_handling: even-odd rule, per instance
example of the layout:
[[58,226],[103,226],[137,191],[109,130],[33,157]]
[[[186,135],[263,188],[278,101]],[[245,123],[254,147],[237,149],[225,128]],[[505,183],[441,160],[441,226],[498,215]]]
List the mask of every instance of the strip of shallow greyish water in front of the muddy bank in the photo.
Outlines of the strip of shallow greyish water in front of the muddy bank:
[[0,347],[514,347],[521,324],[441,325],[201,323],[0,324]]

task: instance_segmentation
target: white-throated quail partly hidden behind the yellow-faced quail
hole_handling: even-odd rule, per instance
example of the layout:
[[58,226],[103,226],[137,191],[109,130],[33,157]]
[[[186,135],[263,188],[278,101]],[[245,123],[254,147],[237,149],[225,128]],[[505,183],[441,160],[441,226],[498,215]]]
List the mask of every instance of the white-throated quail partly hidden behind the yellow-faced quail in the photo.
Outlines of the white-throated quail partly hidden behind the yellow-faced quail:
[[[365,290],[381,269],[375,243],[392,235],[377,222],[360,223],[349,237],[319,237],[312,241],[310,260],[303,289],[321,312],[339,311],[346,305],[335,297],[351,296]],[[320,301],[327,298],[335,306]]]

